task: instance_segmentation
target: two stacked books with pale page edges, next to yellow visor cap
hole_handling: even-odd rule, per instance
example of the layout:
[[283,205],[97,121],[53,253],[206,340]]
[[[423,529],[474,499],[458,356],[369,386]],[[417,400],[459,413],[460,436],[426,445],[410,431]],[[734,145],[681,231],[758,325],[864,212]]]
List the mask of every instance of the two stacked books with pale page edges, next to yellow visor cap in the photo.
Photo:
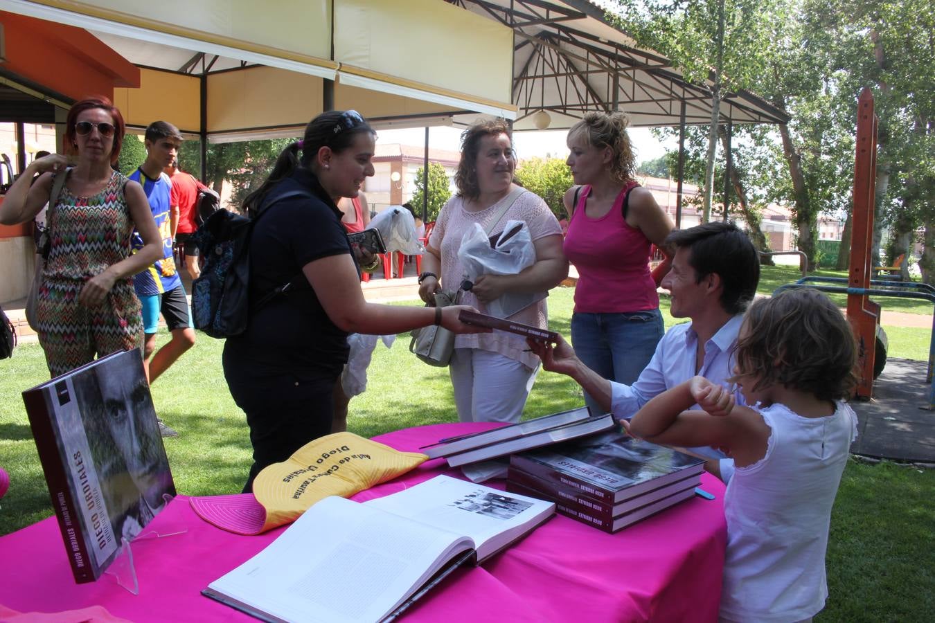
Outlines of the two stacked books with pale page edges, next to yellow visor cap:
[[581,407],[490,431],[441,439],[436,444],[420,449],[429,459],[443,458],[449,466],[459,467],[616,428],[617,424],[611,414],[591,416],[587,407]]

